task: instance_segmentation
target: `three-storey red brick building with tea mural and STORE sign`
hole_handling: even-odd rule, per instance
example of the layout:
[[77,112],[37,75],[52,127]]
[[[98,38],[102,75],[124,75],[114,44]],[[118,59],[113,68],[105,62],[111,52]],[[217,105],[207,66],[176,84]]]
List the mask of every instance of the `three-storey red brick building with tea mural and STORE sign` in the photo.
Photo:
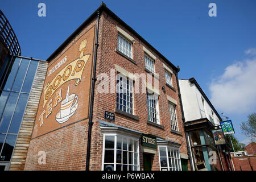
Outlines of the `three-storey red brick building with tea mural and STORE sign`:
[[104,3],[47,63],[24,170],[190,169],[179,68]]

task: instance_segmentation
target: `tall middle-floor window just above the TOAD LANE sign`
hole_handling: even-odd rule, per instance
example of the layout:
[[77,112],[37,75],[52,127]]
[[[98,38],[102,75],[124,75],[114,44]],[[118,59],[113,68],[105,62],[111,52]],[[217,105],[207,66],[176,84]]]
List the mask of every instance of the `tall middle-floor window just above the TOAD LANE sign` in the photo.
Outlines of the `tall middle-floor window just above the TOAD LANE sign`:
[[117,75],[117,109],[133,114],[133,81]]

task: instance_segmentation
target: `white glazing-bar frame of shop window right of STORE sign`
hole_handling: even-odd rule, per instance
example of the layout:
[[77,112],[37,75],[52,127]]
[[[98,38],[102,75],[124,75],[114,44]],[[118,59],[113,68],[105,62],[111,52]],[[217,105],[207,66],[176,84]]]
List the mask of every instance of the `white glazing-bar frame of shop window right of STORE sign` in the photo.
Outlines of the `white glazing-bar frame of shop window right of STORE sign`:
[[[163,156],[163,157],[160,156],[160,147],[165,147],[166,148],[166,156]],[[168,148],[170,148],[170,150],[176,150],[175,158],[172,158],[172,156],[169,156]],[[179,154],[177,154],[177,152],[179,152]],[[159,167],[160,167],[160,171],[162,171],[162,168],[167,168],[167,171],[182,171],[179,148],[172,147],[172,146],[167,146],[167,145],[160,145],[159,144],[158,145],[158,154],[159,154]],[[161,158],[167,158],[167,167],[161,167]],[[170,162],[169,162],[169,158],[171,158],[171,165],[170,165]],[[175,163],[174,166],[172,165],[172,159],[176,160],[176,162],[174,162]],[[175,170],[173,170],[173,169],[175,169]]]

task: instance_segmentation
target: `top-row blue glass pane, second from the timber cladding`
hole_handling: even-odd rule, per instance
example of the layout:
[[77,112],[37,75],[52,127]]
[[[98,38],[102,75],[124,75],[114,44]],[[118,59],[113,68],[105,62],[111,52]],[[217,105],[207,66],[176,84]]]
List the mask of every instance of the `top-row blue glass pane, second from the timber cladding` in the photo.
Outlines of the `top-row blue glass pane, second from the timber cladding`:
[[15,78],[13,88],[11,89],[12,91],[18,91],[19,92],[19,90],[22,86],[25,74],[27,72],[27,67],[28,67],[29,63],[30,63],[29,60],[22,59],[22,63],[19,66],[19,70],[18,70],[17,76]]

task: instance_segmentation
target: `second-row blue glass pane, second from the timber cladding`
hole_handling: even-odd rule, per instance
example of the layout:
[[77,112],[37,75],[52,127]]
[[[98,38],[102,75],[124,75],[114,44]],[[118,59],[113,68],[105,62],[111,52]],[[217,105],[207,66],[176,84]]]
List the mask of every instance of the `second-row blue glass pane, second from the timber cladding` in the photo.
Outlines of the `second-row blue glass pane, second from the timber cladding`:
[[0,121],[0,133],[7,132],[18,96],[18,93],[10,93],[10,97],[8,98],[5,111],[3,111],[3,115]]

